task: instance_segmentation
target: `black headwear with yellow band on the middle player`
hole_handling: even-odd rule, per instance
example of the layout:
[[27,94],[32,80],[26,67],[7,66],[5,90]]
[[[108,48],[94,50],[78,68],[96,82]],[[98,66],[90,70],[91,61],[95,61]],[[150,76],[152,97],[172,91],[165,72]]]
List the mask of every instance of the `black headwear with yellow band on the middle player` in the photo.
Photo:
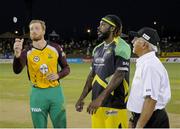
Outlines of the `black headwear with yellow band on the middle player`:
[[105,21],[108,24],[110,24],[112,26],[115,26],[115,27],[117,26],[117,27],[121,28],[121,26],[122,26],[121,19],[118,16],[116,16],[116,15],[112,15],[112,14],[106,15],[101,20]]

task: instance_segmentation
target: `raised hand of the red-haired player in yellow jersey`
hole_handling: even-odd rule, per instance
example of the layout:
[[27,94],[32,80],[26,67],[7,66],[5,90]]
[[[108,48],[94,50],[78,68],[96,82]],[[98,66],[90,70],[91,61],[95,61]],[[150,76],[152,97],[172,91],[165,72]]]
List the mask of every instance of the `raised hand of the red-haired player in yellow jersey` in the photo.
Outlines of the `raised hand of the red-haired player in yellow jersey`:
[[20,55],[21,55],[21,51],[23,48],[23,42],[24,42],[24,39],[18,39],[18,38],[15,39],[14,55],[16,58],[20,57]]

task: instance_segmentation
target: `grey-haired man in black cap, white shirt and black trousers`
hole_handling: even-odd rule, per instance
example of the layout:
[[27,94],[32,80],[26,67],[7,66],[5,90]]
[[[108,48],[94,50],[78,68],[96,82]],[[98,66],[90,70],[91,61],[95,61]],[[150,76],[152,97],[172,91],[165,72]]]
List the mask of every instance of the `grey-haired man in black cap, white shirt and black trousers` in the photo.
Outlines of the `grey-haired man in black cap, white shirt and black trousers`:
[[165,106],[171,98],[168,73],[155,56],[160,41],[156,30],[144,27],[130,32],[133,53],[139,58],[127,108],[132,112],[129,127],[169,128]]

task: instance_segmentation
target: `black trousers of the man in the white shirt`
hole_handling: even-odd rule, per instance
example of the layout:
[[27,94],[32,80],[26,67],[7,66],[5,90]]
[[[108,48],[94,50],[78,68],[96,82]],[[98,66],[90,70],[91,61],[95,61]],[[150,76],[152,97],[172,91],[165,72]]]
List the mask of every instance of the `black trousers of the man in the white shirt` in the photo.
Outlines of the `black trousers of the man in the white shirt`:
[[[136,127],[137,121],[140,117],[140,114],[138,113],[132,113],[133,115],[133,125]],[[147,122],[144,128],[169,128],[169,118],[165,111],[165,109],[159,110],[153,112],[151,118]]]

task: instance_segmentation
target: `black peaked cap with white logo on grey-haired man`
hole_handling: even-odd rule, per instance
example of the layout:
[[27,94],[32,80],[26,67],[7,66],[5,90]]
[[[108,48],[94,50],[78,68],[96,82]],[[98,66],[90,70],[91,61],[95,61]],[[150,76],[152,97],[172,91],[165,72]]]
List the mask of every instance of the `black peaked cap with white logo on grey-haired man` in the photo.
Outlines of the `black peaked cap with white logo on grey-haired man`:
[[155,46],[157,46],[157,43],[160,41],[157,31],[150,27],[143,27],[138,32],[130,31],[129,35],[132,37],[142,37]]

